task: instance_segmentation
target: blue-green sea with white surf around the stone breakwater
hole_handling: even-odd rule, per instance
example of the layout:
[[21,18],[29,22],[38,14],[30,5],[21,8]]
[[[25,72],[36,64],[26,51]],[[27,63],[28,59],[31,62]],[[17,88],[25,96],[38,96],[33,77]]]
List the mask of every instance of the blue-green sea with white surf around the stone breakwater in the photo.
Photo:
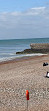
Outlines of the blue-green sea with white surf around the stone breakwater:
[[0,62],[8,61],[24,56],[42,55],[35,54],[16,54],[16,52],[23,51],[30,48],[31,43],[49,43],[49,38],[29,38],[29,39],[8,39],[0,40]]

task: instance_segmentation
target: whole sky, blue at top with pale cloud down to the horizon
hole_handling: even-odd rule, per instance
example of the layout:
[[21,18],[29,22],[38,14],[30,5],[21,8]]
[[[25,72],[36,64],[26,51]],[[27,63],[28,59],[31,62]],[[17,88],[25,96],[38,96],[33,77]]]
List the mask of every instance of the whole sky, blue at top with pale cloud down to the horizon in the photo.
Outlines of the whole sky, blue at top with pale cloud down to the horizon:
[[49,0],[0,0],[0,39],[49,37]]

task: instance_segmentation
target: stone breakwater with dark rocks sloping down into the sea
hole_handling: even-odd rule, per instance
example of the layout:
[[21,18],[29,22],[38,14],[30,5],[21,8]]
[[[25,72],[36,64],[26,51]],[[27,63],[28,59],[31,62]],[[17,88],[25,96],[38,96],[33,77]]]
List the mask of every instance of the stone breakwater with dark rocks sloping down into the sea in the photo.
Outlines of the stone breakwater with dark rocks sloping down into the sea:
[[16,54],[31,54],[31,53],[49,53],[49,43],[31,43],[30,49],[25,49]]

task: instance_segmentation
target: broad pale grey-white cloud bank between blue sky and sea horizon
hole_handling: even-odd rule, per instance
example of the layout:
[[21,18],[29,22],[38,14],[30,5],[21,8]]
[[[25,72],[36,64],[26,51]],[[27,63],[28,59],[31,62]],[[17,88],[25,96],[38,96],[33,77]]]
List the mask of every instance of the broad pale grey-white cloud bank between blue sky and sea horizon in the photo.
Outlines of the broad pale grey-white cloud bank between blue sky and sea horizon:
[[0,37],[47,36],[48,30],[49,9],[47,7],[34,7],[24,12],[0,12]]

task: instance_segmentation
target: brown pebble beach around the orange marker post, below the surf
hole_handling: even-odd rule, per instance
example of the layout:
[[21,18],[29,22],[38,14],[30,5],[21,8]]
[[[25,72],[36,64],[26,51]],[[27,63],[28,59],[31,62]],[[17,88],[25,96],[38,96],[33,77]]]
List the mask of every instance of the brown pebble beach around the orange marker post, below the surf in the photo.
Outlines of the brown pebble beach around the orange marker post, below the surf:
[[0,63],[0,111],[49,111],[49,55]]

